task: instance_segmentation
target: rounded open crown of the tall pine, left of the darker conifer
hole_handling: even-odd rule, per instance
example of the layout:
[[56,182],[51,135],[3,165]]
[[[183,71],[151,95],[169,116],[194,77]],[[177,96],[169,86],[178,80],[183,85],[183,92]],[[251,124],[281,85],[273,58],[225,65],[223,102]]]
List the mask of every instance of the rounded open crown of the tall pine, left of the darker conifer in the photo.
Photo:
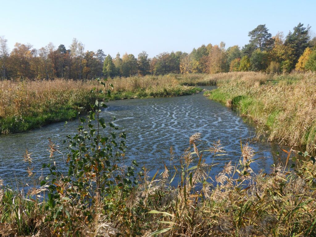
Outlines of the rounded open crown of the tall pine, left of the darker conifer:
[[249,43],[254,45],[255,48],[260,51],[266,50],[270,43],[271,34],[269,30],[264,25],[258,25],[252,31],[249,31],[248,36],[250,37]]

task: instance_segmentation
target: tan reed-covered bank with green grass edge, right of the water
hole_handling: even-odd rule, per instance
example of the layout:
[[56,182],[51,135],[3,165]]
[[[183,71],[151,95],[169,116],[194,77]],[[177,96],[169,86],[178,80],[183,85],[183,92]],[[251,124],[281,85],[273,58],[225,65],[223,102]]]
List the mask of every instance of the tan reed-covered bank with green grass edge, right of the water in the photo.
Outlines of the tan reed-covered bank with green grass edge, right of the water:
[[258,135],[290,146],[316,145],[316,74],[221,74],[205,95],[232,106],[257,125]]

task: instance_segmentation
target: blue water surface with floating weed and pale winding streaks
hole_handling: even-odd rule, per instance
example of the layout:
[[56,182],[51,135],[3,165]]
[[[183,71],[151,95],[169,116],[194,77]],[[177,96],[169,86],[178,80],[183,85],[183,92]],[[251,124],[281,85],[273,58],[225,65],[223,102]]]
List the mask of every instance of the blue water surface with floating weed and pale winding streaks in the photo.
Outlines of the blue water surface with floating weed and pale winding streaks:
[[[212,89],[214,87],[203,87]],[[209,149],[214,141],[221,140],[227,155],[216,156],[213,169],[218,173],[225,162],[238,162],[240,159],[240,139],[244,142],[254,136],[255,128],[244,122],[238,114],[222,104],[209,100],[198,93],[172,98],[152,98],[116,100],[108,103],[108,108],[100,116],[109,121],[116,117],[115,124],[127,133],[127,152],[125,163],[137,160],[140,166],[146,165],[152,171],[163,169],[163,163],[169,164],[170,147],[177,160],[189,145],[189,137],[201,133],[199,149]],[[32,166],[36,177],[47,174],[41,170],[42,164],[49,161],[48,138],[59,145],[66,154],[63,144],[67,134],[76,132],[78,120],[47,125],[41,129],[23,134],[0,137],[0,177],[5,184],[16,185],[30,182],[27,178],[27,163],[23,154],[27,149],[33,158]],[[260,158],[254,164],[255,170],[270,170],[273,154],[279,147],[271,143],[257,142],[251,146],[258,151]],[[64,156],[66,157],[66,155]],[[205,156],[211,162],[211,155]],[[62,170],[66,169],[63,155],[57,155]]]

